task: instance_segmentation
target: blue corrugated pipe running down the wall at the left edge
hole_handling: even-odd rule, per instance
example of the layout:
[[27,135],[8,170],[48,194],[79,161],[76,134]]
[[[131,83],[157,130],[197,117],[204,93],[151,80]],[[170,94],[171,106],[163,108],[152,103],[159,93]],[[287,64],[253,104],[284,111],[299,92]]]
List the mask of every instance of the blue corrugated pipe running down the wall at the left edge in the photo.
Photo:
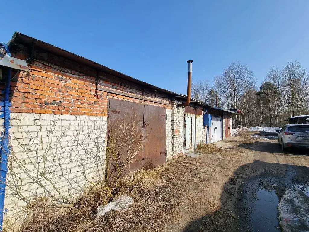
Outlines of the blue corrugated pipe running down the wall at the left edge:
[[[6,44],[1,43],[5,49],[6,55],[11,55]],[[10,112],[9,112],[9,94],[10,94],[10,80],[11,68],[7,69],[6,87],[4,93],[4,132],[2,132],[2,142],[0,148],[0,231],[3,225],[4,213],[4,194],[6,187],[6,173],[7,173],[7,157],[10,154],[9,148],[9,127],[10,127]]]

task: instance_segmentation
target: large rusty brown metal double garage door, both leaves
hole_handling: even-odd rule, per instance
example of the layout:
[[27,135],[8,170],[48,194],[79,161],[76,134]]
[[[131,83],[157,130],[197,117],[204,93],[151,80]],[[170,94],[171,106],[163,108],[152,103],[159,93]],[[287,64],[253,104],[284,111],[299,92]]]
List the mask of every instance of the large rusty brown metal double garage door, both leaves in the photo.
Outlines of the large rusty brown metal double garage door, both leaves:
[[125,164],[122,175],[141,168],[148,170],[165,163],[166,108],[109,99],[108,143],[108,148],[115,146],[113,143],[119,146],[116,150],[107,151],[110,173],[112,169],[119,169],[119,166],[125,163],[125,159],[129,158],[130,153],[136,155]]

